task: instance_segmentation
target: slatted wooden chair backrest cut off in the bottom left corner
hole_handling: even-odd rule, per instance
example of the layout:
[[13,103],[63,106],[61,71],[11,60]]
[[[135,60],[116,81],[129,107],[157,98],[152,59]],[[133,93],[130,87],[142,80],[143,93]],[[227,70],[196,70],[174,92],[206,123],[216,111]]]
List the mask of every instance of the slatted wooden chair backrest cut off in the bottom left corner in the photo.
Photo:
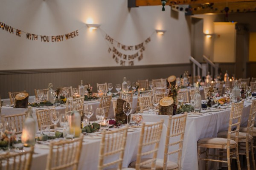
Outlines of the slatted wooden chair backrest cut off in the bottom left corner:
[[33,153],[34,147],[30,147],[24,152],[0,154],[0,170],[30,170]]

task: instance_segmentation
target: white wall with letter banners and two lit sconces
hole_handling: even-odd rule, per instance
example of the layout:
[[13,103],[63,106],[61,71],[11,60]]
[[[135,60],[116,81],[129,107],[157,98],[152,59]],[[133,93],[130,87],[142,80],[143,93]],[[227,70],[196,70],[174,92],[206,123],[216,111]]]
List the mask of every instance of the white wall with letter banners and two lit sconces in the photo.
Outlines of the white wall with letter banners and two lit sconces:
[[[22,31],[38,35],[67,34],[85,26],[88,18],[116,41],[137,45],[155,29],[134,65],[188,63],[190,31],[183,12],[171,17],[170,7],[127,8],[127,0],[1,0],[0,21]],[[108,53],[100,30],[79,30],[79,36],[62,42],[27,40],[0,29],[0,70],[40,68],[84,68],[118,66]]]

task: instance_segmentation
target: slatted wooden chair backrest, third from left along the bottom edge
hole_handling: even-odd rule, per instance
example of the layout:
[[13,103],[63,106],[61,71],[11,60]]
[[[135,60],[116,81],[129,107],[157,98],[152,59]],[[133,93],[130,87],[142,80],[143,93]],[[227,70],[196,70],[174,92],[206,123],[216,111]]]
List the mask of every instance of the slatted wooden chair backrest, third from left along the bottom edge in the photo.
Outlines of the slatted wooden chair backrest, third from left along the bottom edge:
[[[102,140],[99,148],[99,164],[98,170],[103,170],[114,164],[118,164],[118,170],[122,169],[122,160],[125,152],[125,144],[127,137],[128,125],[124,128],[111,131],[102,131]],[[111,156],[119,156],[118,159],[111,162],[104,162]]]

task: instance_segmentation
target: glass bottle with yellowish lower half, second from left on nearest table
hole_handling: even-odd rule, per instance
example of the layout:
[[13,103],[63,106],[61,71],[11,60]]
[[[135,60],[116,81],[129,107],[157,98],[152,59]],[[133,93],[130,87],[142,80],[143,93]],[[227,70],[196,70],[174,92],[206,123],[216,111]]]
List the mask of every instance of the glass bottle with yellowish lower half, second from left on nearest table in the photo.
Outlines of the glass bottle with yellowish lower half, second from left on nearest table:
[[73,102],[73,111],[68,118],[71,133],[75,131],[75,137],[79,137],[81,131],[81,115],[77,111],[77,102]]

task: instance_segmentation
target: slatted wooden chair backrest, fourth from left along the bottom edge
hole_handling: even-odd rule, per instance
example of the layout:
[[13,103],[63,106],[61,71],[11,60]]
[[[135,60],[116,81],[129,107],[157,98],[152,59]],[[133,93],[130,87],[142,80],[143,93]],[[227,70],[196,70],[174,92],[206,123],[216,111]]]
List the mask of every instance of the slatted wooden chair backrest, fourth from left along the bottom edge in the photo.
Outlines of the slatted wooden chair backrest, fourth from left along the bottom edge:
[[[157,123],[142,124],[141,133],[140,133],[140,142],[137,152],[137,160],[135,164],[135,169],[139,170],[140,166],[151,163],[151,170],[154,170],[156,167],[157,160],[157,151],[159,147],[159,142],[163,129],[163,119]],[[154,147],[150,151],[143,151],[143,147]],[[141,162],[141,157],[145,155],[153,154],[151,159]]]

